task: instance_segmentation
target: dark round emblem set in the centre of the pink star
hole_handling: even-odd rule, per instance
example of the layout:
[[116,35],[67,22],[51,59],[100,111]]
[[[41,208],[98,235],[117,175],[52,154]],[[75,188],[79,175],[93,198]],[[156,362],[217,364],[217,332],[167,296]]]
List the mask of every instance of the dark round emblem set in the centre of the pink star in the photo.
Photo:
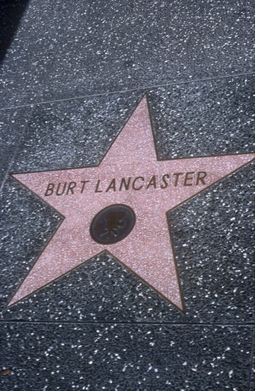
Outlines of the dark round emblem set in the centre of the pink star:
[[90,235],[97,243],[112,245],[129,235],[135,223],[136,215],[129,206],[109,205],[94,216],[90,225]]

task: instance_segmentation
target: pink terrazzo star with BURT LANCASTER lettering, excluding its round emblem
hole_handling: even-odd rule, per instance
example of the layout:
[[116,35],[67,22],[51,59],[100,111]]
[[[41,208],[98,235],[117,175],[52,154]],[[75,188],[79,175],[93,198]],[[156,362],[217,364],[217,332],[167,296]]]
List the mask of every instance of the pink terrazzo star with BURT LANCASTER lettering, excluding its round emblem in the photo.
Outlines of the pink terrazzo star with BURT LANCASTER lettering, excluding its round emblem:
[[[166,213],[252,159],[254,154],[159,161],[144,95],[99,166],[13,174],[65,219],[9,306],[107,251],[184,311]],[[131,207],[136,223],[123,240],[103,245],[89,227],[113,204]]]

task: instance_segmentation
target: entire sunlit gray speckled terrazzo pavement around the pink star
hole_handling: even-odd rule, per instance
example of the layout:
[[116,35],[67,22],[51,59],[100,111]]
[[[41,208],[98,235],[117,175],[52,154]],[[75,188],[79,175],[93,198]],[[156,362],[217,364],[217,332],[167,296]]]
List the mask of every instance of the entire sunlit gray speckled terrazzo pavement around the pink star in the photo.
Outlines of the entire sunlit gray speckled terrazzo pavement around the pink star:
[[185,316],[107,254],[6,309],[62,220],[9,173],[98,164],[145,90],[161,159],[254,150],[253,14],[30,1],[0,77],[1,390],[254,389],[254,164],[168,213]]

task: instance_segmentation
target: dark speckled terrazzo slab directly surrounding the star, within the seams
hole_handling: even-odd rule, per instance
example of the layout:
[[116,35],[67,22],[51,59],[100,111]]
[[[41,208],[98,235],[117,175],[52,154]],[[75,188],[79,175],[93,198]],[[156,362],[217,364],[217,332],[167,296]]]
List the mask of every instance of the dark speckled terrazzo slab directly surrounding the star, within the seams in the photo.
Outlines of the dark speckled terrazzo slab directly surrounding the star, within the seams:
[[[208,139],[214,154],[234,153],[234,146],[238,152],[251,151],[251,84],[251,77],[234,77],[150,90],[161,157],[207,154]],[[139,91],[126,92],[38,105],[12,171],[99,163],[141,95]],[[237,110],[230,109],[234,97],[238,97]],[[183,115],[182,109],[190,105],[192,109]],[[202,126],[201,112],[206,127]],[[190,129],[183,132],[182,142],[179,129]],[[114,259],[101,256],[5,310],[2,317],[42,321],[251,322],[251,178],[251,166],[242,168],[169,215],[186,316]],[[1,269],[2,308],[60,223],[50,207],[11,178],[6,183],[3,204],[6,252]],[[16,235],[20,227],[22,235]]]

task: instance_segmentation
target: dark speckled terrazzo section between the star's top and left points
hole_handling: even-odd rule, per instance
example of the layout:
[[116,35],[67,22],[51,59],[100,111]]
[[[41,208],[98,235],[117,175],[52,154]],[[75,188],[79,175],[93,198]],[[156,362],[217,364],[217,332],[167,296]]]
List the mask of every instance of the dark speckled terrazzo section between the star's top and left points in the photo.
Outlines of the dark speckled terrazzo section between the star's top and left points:
[[12,171],[99,164],[140,98],[126,92],[37,105]]

